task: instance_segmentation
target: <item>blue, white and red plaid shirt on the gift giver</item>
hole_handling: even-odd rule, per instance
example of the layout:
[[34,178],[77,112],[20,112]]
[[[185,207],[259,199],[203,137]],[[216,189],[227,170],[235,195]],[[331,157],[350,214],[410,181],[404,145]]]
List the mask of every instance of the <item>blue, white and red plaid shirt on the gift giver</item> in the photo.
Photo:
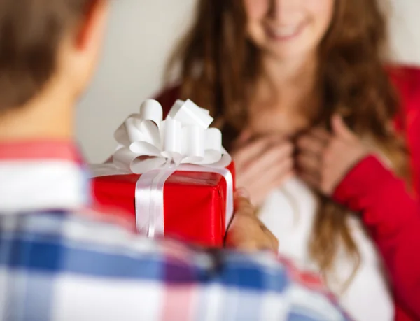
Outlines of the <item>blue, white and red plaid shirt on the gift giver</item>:
[[0,145],[0,320],[347,320],[286,262],[134,235],[68,143]]

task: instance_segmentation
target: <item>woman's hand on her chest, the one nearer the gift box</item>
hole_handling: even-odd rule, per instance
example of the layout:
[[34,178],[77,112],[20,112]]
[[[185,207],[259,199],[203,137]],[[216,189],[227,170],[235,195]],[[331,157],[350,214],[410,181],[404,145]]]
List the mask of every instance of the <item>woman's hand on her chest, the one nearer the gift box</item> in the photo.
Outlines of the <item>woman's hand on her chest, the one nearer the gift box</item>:
[[293,144],[277,135],[250,139],[242,134],[231,155],[237,186],[246,188],[255,206],[260,206],[272,190],[293,176]]

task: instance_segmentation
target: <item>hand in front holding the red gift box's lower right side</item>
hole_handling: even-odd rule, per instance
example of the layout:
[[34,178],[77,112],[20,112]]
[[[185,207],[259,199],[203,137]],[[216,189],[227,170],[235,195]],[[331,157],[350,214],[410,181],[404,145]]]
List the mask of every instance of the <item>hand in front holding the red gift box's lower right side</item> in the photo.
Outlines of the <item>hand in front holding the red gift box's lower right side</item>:
[[238,190],[235,194],[235,216],[228,229],[225,245],[245,252],[272,250],[277,252],[279,241],[255,215],[255,208],[247,192]]

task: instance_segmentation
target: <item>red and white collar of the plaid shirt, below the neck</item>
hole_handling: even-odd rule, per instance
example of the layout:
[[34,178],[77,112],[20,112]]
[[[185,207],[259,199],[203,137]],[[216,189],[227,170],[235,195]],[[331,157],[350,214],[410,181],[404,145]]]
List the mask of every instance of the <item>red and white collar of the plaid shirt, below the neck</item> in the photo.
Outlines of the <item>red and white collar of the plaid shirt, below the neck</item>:
[[69,141],[0,143],[0,211],[73,210],[89,206],[90,180]]

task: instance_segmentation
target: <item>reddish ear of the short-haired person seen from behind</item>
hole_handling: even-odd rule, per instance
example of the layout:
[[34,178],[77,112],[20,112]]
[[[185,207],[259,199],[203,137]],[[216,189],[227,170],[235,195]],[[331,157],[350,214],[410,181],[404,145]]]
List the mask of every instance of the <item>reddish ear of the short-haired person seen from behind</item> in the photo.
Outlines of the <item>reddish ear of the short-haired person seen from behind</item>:
[[85,9],[76,34],[76,48],[88,50],[102,38],[106,28],[109,0],[91,0]]

